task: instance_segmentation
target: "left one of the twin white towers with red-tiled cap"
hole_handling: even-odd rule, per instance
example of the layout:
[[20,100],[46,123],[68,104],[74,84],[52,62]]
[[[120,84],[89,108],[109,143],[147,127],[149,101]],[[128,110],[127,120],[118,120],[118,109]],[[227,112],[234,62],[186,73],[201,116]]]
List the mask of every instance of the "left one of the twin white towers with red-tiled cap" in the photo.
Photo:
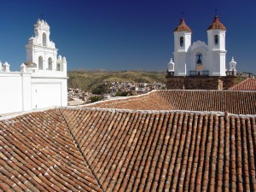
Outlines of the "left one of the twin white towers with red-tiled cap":
[[181,19],[179,25],[173,31],[174,34],[174,62],[175,76],[187,75],[186,55],[191,45],[191,30],[185,24],[185,20]]

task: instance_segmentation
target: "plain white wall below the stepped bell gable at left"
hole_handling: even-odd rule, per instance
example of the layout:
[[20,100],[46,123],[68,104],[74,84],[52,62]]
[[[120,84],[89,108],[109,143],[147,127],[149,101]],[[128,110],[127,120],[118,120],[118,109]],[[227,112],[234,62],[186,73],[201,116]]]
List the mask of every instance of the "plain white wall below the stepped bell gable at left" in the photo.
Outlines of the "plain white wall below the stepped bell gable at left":
[[67,106],[67,77],[32,77],[32,73],[0,73],[0,114]]

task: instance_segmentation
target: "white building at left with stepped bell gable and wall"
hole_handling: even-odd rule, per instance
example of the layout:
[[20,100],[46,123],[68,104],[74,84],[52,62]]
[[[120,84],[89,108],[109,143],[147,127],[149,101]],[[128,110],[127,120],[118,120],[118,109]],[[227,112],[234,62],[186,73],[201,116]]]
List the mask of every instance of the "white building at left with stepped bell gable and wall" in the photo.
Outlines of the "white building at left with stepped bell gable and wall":
[[67,106],[67,61],[57,55],[49,29],[45,20],[34,25],[20,72],[11,72],[9,63],[0,61],[0,115]]

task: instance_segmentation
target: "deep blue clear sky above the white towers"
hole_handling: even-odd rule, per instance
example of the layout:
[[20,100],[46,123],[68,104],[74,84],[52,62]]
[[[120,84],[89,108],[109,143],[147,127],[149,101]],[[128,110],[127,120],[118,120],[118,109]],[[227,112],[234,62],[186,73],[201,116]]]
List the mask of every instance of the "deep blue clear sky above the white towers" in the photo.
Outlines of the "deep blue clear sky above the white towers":
[[227,28],[226,62],[234,56],[240,72],[256,73],[255,0],[1,0],[0,60],[19,70],[33,25],[44,14],[68,70],[166,70],[181,12],[192,42],[207,42],[215,9]]

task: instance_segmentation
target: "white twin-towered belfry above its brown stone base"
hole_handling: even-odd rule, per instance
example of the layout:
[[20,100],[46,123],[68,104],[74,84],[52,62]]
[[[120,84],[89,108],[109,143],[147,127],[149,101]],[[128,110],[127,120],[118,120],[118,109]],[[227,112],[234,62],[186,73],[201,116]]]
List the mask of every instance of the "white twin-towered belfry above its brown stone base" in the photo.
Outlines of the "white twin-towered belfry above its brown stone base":
[[[215,16],[207,30],[208,44],[202,41],[191,44],[192,32],[182,19],[173,32],[174,63],[168,63],[168,71],[172,65],[174,76],[226,76],[225,32],[225,27]],[[230,70],[236,71],[236,65]]]

